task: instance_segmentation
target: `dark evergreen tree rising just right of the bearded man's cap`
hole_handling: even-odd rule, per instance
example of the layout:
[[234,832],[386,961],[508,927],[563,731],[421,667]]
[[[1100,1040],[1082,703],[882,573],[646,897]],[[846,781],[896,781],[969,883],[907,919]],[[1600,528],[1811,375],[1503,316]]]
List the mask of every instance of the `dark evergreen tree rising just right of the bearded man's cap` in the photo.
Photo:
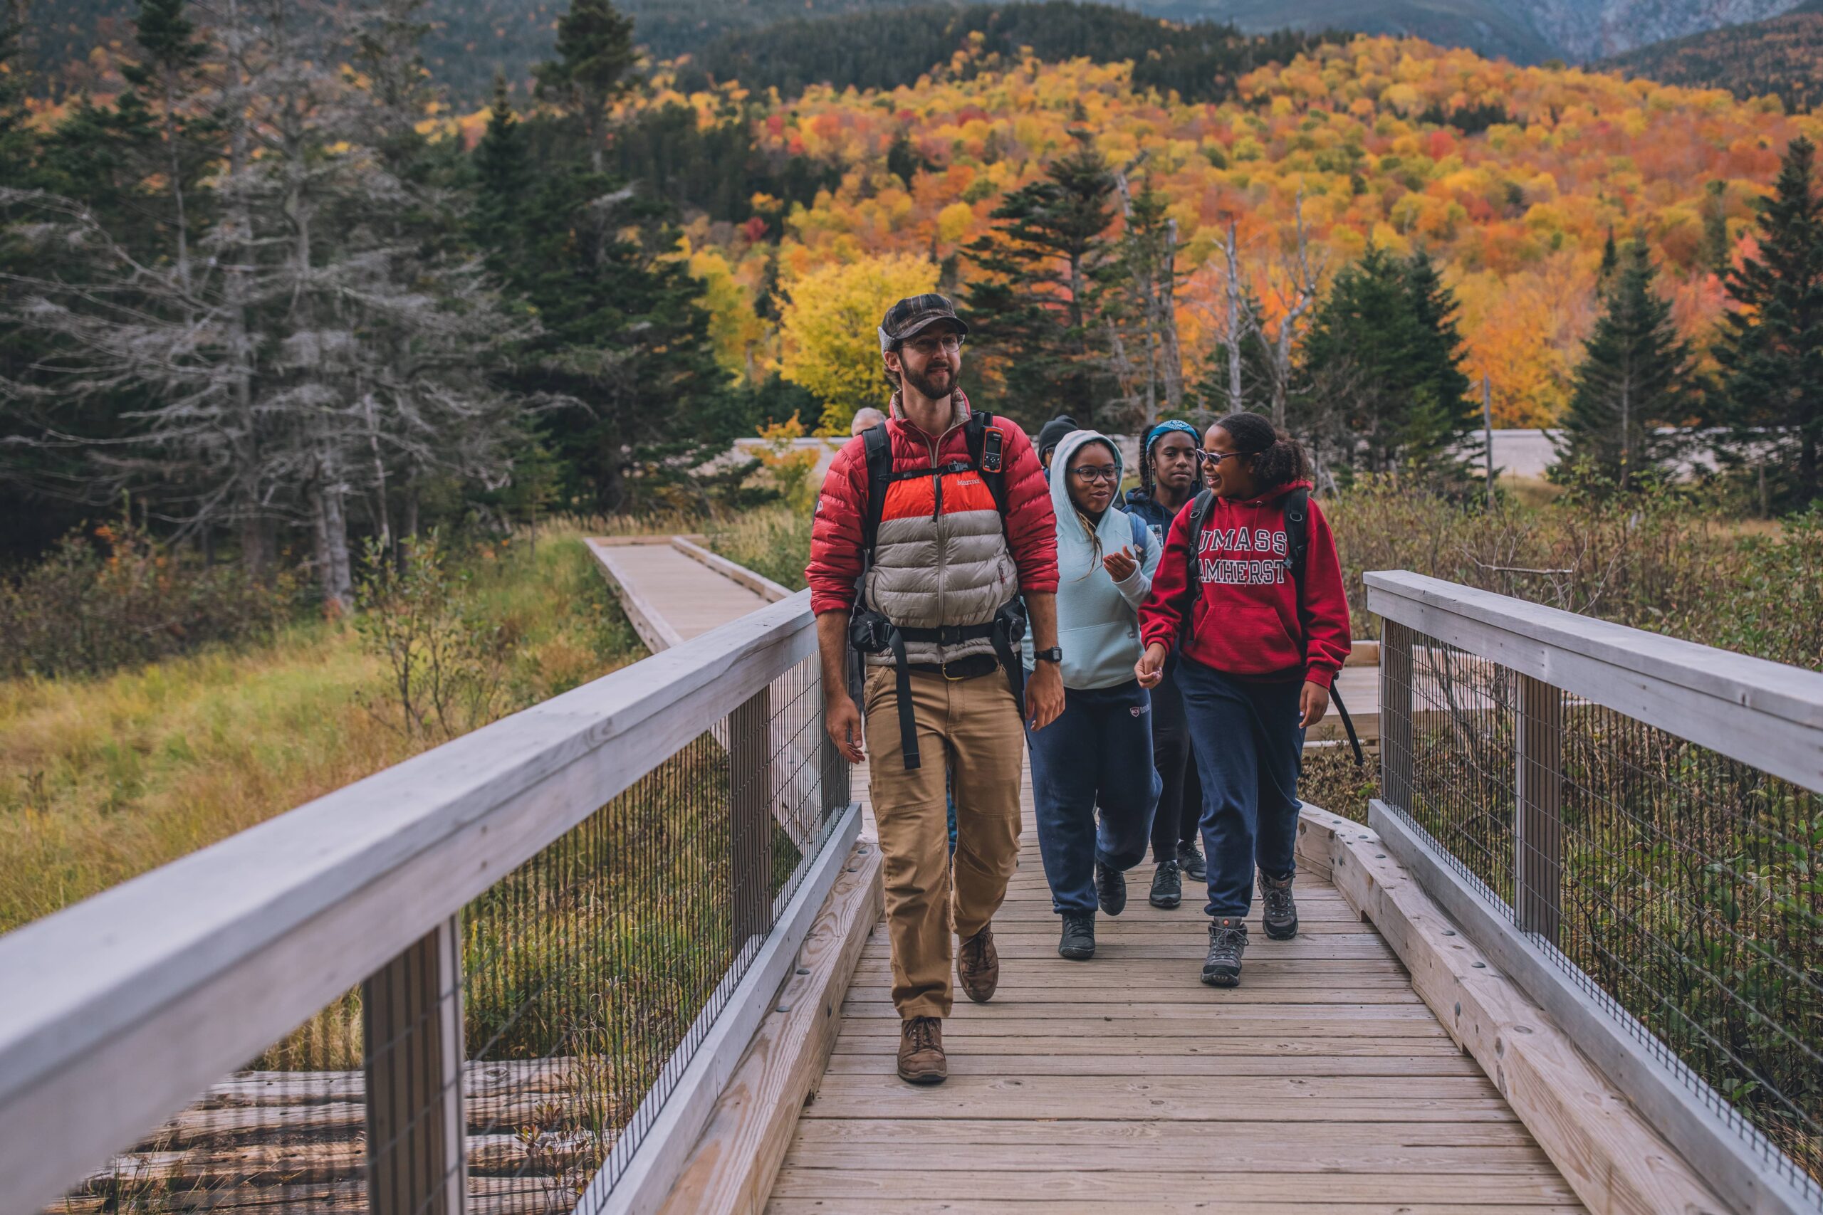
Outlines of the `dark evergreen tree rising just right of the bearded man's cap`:
[[1114,395],[1101,355],[1097,270],[1108,255],[1114,173],[1079,133],[1045,179],[1008,193],[995,231],[968,246],[986,271],[968,291],[975,342],[1023,423],[1068,414],[1094,426]]

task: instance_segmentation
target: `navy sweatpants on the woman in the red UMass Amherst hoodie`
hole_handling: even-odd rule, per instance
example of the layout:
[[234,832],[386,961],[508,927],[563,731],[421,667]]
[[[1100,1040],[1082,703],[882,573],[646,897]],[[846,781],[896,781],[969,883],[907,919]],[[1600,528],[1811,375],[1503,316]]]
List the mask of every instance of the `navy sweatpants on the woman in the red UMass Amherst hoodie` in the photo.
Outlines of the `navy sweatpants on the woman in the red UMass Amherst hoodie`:
[[1245,683],[1185,658],[1178,692],[1203,781],[1203,854],[1210,916],[1252,907],[1254,867],[1293,873],[1298,845],[1298,725],[1302,679]]

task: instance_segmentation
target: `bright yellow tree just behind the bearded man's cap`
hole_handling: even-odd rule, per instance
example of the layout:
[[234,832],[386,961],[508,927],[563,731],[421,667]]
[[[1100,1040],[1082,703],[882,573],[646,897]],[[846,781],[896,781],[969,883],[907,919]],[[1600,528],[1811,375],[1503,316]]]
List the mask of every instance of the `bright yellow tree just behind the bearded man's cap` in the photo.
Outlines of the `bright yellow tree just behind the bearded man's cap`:
[[937,268],[908,253],[828,262],[789,282],[780,372],[822,399],[819,434],[846,435],[855,410],[881,403],[881,317],[906,295],[935,290]]

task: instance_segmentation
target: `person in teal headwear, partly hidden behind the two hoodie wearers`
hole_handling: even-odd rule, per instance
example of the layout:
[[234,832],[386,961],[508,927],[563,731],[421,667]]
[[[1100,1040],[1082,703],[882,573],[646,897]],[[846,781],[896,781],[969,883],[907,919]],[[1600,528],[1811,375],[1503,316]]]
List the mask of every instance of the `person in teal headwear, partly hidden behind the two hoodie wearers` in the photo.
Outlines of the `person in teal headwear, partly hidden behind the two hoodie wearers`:
[[[1201,486],[1196,450],[1201,435],[1190,423],[1159,423],[1145,437],[1139,452],[1139,488],[1127,492],[1127,514],[1138,516],[1165,543],[1170,521],[1190,505]],[[1152,692],[1152,763],[1163,781],[1158,811],[1152,814],[1152,894],[1154,907],[1170,909],[1183,902],[1183,874],[1198,882],[1207,869],[1196,851],[1203,822],[1203,781],[1196,776],[1196,756],[1183,718],[1183,699],[1176,685],[1176,654],[1165,661],[1165,679]]]

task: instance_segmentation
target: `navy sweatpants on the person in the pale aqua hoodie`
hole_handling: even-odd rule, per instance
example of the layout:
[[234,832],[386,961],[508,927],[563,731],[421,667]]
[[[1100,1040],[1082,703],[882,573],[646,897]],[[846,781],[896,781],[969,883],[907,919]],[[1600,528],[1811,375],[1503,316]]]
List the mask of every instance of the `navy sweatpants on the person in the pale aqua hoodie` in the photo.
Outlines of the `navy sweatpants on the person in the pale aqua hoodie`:
[[1145,860],[1159,783],[1152,767],[1152,698],[1138,679],[1065,689],[1063,716],[1043,730],[1026,730],[1026,740],[1050,905],[1059,914],[1094,911],[1096,862],[1127,871]]

